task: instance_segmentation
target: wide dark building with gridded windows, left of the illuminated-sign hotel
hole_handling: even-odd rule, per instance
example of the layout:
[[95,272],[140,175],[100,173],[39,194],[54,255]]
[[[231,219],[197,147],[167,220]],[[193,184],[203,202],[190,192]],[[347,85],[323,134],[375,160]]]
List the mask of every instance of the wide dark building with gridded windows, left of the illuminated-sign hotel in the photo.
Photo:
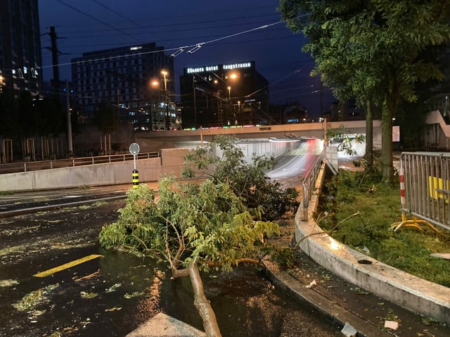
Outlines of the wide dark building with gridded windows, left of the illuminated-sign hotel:
[[[83,53],[72,59],[75,109],[94,117],[98,103],[117,109],[135,131],[179,127],[173,102],[174,62],[154,43]],[[164,72],[162,72],[164,71]]]

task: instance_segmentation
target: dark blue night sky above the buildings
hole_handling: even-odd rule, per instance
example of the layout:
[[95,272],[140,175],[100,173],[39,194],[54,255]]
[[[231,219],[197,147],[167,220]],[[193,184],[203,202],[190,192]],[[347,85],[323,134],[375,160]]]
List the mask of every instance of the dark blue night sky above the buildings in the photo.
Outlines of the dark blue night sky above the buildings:
[[314,61],[302,53],[302,34],[280,23],[278,0],[39,0],[44,80],[50,80],[50,27],[59,39],[60,79],[71,80],[70,60],[86,51],[155,42],[176,56],[175,86],[183,68],[255,61],[269,80],[271,103],[299,101],[310,115],[328,110],[330,90],[309,72]]

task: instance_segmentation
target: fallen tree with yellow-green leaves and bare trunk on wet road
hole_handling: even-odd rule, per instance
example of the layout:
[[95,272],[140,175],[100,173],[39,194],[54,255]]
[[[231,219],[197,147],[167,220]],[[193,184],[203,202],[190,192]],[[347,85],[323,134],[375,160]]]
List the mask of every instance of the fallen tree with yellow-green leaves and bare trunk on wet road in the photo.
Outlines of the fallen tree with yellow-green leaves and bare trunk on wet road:
[[[229,150],[241,172],[250,172],[244,179],[250,196],[261,183],[259,171],[263,166],[244,170],[244,163],[236,160],[237,152],[232,147]],[[208,155],[211,153],[200,155],[204,163],[217,164],[207,159]],[[226,160],[226,155],[221,160]],[[221,170],[224,166],[219,165]],[[217,179],[225,176],[231,178],[226,182]],[[158,198],[146,184],[141,184],[129,191],[117,222],[105,225],[99,236],[105,249],[162,258],[172,269],[172,278],[189,276],[205,332],[214,337],[221,333],[203,291],[200,271],[229,271],[241,262],[258,263],[267,252],[265,239],[279,233],[278,224],[262,220],[261,205],[249,208],[246,198],[236,195],[238,185],[230,183],[232,177],[221,172],[202,184],[181,183],[167,177],[159,182]]]

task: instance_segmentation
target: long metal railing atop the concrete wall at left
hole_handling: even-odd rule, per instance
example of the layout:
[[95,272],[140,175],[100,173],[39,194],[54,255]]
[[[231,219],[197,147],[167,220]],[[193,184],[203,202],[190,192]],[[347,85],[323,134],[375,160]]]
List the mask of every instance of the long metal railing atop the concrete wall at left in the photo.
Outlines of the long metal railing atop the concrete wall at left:
[[[143,152],[136,155],[136,159],[148,159],[160,157],[159,152]],[[134,155],[124,153],[121,155],[98,155],[92,157],[68,158],[58,160],[39,160],[27,161],[21,163],[3,163],[0,164],[0,174],[29,172],[37,170],[51,170],[61,167],[75,167],[95,164],[118,163],[122,161],[134,160]]]

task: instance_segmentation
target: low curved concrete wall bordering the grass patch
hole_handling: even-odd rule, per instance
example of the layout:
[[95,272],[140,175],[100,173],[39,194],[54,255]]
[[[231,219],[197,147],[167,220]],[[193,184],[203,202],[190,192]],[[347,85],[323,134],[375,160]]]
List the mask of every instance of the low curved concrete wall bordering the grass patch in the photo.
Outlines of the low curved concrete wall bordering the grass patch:
[[[324,172],[322,169],[316,191],[323,184]],[[450,324],[450,288],[401,272],[335,241],[314,221],[313,213],[318,204],[319,193],[314,193],[309,202],[309,221],[301,220],[300,208],[295,216],[295,239],[304,253],[333,274],[366,291]]]

